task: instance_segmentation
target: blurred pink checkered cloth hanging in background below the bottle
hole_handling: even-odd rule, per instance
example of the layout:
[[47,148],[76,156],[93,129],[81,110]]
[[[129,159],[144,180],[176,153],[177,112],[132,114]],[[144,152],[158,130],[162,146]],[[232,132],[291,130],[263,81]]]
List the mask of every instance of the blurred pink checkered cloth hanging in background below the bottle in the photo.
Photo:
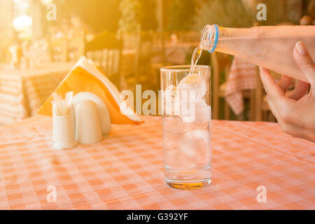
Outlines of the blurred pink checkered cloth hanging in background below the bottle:
[[225,100],[236,115],[244,111],[242,91],[255,89],[256,75],[257,67],[254,64],[234,57],[226,82]]

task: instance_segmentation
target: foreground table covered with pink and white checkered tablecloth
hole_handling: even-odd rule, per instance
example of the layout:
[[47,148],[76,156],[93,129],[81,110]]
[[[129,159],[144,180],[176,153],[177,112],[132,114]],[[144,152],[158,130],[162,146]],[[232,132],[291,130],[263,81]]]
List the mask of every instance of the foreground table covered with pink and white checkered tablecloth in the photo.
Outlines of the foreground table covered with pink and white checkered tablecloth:
[[212,183],[184,191],[163,180],[161,118],[144,121],[63,151],[51,118],[0,127],[0,209],[315,209],[315,144],[278,124],[214,120]]

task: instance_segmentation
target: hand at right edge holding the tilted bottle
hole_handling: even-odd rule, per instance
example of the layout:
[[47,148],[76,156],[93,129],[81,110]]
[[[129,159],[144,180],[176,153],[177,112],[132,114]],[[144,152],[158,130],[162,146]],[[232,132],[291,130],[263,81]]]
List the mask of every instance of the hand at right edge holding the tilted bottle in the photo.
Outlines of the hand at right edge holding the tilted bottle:
[[[279,83],[275,83],[270,71],[263,68],[260,68],[260,78],[267,92],[269,108],[283,132],[315,143],[315,63],[302,41],[296,43],[293,56],[309,83],[300,80],[295,90],[286,95],[292,78],[282,76]],[[309,85],[311,90],[305,94]]]

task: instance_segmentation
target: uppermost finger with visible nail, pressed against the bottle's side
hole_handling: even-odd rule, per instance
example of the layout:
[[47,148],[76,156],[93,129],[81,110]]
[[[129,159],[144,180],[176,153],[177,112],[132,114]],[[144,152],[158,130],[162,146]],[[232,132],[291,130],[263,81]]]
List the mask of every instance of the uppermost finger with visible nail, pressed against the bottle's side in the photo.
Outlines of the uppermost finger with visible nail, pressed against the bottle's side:
[[293,55],[297,66],[299,66],[307,80],[309,80],[309,83],[315,85],[315,63],[313,62],[313,59],[311,59],[311,55],[309,55],[309,52],[302,41],[298,41],[295,44]]

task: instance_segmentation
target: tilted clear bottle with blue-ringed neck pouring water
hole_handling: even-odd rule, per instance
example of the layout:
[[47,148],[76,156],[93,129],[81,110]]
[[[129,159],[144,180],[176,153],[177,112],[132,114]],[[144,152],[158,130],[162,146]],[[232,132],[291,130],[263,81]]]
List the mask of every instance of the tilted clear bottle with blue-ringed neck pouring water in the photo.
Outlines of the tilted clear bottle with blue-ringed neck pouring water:
[[307,81],[295,64],[293,49],[302,41],[315,59],[315,26],[276,26],[235,29],[207,25],[200,47],[245,59],[277,73]]

